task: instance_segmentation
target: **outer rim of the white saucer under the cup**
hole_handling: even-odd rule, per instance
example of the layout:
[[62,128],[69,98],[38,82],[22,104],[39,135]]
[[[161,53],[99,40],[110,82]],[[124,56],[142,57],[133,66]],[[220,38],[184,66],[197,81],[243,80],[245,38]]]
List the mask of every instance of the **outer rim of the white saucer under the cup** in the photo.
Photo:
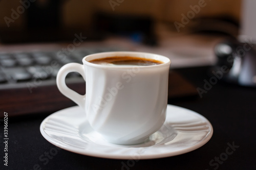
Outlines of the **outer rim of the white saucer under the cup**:
[[[170,152],[166,152],[166,153],[157,153],[157,154],[153,153],[153,154],[140,155],[139,160],[142,160],[142,159],[165,158],[165,157],[172,157],[172,156],[177,156],[177,155],[185,154],[185,153],[194,151],[194,150],[196,150],[198,148],[201,148],[212,137],[213,132],[214,132],[214,130],[212,128],[212,125],[209,122],[209,120],[207,118],[205,118],[203,115],[201,115],[201,114],[199,114],[199,113],[197,113],[197,112],[195,112],[193,110],[189,110],[189,109],[186,109],[186,108],[183,108],[183,107],[180,107],[180,106],[175,106],[175,105],[170,105],[170,104],[167,105],[166,114],[168,114],[167,113],[168,107],[169,107],[169,109],[170,109],[170,107],[175,107],[175,108],[178,108],[178,109],[182,109],[182,110],[185,110],[186,112],[189,112],[189,114],[195,114],[196,116],[200,117],[200,119],[204,120],[207,123],[207,125],[209,126],[208,134],[205,135],[205,137],[202,140],[200,140],[198,143],[196,143],[196,144],[194,144],[194,145],[192,145],[192,146],[190,146],[188,148],[184,148],[184,149],[177,150],[177,151],[170,151]],[[43,125],[45,125],[45,123],[47,122],[47,120],[50,117],[52,117],[53,115],[59,114],[59,113],[61,113],[63,111],[73,110],[73,109],[78,109],[78,108],[79,108],[79,106],[72,106],[72,107],[68,107],[68,108],[65,108],[65,109],[58,110],[58,111],[48,115],[40,124],[40,133],[41,133],[41,135],[47,141],[49,141],[50,143],[54,144],[56,147],[64,149],[64,150],[67,150],[67,151],[70,151],[70,152],[73,152],[73,153],[77,153],[77,154],[81,154],[81,155],[86,155],[86,156],[93,156],[93,157],[98,157],[98,158],[107,158],[107,159],[131,159],[132,158],[131,155],[127,156],[127,155],[120,155],[120,154],[116,154],[116,153],[103,153],[103,152],[97,153],[97,152],[92,151],[92,150],[82,150],[82,149],[78,149],[78,148],[68,148],[65,145],[57,142],[57,140],[55,138],[52,138],[51,136],[49,136],[44,131]],[[97,144],[97,143],[94,143],[94,144]],[[152,145],[150,147],[154,147],[154,146],[156,146],[156,145]],[[116,149],[118,149],[118,148],[123,148],[123,147],[122,147],[122,145],[120,145],[120,147],[117,145]],[[131,147],[131,148],[134,148],[134,147]],[[135,149],[139,149],[139,148],[145,148],[145,147],[138,147],[138,148],[135,148]],[[146,147],[146,148],[148,148],[148,147]],[[168,145],[166,145],[166,148],[168,148]],[[133,160],[136,160],[136,158],[133,158]]]

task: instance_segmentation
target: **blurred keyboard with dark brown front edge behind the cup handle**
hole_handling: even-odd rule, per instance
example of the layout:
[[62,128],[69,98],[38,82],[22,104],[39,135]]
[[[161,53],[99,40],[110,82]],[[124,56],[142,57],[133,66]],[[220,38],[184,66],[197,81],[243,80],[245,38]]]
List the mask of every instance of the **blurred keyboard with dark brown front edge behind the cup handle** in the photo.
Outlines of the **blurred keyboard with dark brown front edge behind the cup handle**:
[[[29,113],[53,112],[74,106],[75,103],[57,89],[59,68],[67,63],[82,64],[89,54],[123,51],[116,47],[80,48],[72,53],[61,50],[0,53],[0,107],[14,116]],[[85,82],[77,72],[66,78],[67,85],[85,93]]]

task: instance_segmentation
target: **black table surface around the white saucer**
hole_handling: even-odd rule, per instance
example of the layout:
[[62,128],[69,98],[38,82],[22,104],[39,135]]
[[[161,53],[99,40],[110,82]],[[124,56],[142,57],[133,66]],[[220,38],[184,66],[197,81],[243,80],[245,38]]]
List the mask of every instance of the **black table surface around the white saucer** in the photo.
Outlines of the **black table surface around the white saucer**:
[[[204,80],[210,78],[207,70],[208,67],[196,67],[176,71],[196,88],[204,89]],[[3,161],[4,124],[1,122],[0,169],[256,169],[255,88],[218,81],[201,97],[198,94],[193,98],[170,99],[168,104],[205,116],[214,128],[212,138],[195,151],[160,159],[103,159],[61,149],[47,161],[40,161],[41,155],[55,148],[39,131],[40,123],[50,113],[21,115],[8,119],[8,166]]]

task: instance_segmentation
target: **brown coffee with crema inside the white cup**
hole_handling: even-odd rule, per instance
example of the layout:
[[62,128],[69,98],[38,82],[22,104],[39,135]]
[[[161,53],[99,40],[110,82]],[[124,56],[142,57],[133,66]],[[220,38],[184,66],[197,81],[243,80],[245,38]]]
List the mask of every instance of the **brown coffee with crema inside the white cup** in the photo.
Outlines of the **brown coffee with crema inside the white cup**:
[[163,64],[162,61],[148,59],[148,58],[139,58],[139,57],[106,57],[100,59],[94,59],[89,61],[90,63],[99,64],[99,65],[110,65],[110,66],[150,66]]

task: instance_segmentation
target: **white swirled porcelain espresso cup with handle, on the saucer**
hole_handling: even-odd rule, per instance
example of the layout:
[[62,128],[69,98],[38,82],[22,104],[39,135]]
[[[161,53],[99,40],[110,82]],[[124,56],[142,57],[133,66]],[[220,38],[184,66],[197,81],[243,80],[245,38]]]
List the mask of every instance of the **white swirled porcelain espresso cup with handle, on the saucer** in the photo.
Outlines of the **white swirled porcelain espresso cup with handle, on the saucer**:
[[[107,57],[138,57],[160,61],[157,65],[100,65],[91,60]],[[137,144],[161,128],[168,98],[167,57],[140,52],[105,52],[84,57],[83,65],[69,63],[57,75],[60,92],[77,103],[91,127],[111,143]],[[69,72],[86,81],[86,94],[67,87]],[[72,113],[70,113],[72,114]]]

